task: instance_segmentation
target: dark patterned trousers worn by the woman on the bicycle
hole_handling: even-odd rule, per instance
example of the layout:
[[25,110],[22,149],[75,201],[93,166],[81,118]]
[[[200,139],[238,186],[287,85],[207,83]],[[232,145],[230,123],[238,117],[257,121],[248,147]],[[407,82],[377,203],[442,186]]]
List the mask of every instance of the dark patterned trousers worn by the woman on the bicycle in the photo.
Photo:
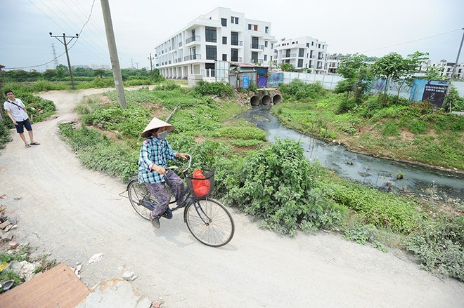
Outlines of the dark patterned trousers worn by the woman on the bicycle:
[[148,192],[152,194],[158,203],[155,205],[155,209],[152,210],[153,216],[159,216],[162,213],[165,213],[165,210],[169,206],[169,201],[171,201],[171,194],[169,193],[169,189],[167,188],[166,184],[172,191],[174,197],[176,197],[177,204],[181,203],[181,198],[185,192],[185,185],[179,175],[176,175],[172,170],[166,170],[167,173],[165,175],[165,181],[161,183],[145,183],[145,186],[148,189]]

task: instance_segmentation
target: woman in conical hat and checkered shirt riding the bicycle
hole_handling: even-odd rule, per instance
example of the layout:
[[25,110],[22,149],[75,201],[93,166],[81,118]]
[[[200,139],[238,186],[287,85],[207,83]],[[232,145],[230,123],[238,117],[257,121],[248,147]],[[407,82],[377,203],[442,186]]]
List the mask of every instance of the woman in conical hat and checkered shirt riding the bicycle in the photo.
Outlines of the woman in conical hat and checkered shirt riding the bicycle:
[[181,206],[185,194],[185,185],[174,171],[167,169],[167,160],[177,161],[180,157],[187,159],[188,154],[173,152],[166,140],[166,135],[174,130],[174,126],[165,121],[153,118],[141,136],[146,138],[138,157],[138,182],[145,183],[148,192],[157,200],[155,209],[150,213],[150,220],[155,229],[160,228],[160,215],[169,207],[169,188]]

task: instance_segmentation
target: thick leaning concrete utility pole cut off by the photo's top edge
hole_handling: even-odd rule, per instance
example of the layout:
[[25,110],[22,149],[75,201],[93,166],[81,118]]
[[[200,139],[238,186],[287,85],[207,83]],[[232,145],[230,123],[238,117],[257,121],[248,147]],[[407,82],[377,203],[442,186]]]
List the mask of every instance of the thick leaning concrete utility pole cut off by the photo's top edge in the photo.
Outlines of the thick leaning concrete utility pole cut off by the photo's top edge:
[[126,109],[126,95],[124,95],[124,84],[122,83],[120,60],[117,58],[115,32],[112,29],[110,4],[108,4],[108,0],[101,0],[101,11],[103,12],[103,20],[105,21],[106,39],[108,41],[108,49],[110,51],[112,76],[115,79],[117,102],[119,102],[121,108]]

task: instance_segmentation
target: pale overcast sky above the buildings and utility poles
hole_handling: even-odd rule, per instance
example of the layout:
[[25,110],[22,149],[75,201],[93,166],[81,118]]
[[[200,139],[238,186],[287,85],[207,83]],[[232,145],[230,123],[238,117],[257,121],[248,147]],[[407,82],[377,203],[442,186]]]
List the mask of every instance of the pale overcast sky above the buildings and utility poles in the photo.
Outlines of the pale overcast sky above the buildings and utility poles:
[[[150,68],[148,56],[158,43],[217,6],[271,22],[271,35],[278,40],[312,36],[326,41],[328,53],[382,57],[421,51],[430,53],[432,61],[454,62],[464,32],[464,0],[109,2],[122,68]],[[0,65],[7,69],[54,68],[52,43],[61,55],[58,62],[67,65],[63,44],[49,32],[80,32],[70,43],[72,65],[110,64],[100,0],[1,0],[0,11]],[[464,62],[463,51],[459,62]]]

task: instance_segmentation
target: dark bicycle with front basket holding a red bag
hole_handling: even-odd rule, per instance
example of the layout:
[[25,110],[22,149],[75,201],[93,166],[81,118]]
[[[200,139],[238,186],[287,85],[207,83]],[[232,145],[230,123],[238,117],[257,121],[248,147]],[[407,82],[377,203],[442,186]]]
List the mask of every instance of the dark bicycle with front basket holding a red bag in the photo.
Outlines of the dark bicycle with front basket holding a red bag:
[[[214,170],[205,171],[204,178],[193,178],[188,176],[187,172],[191,168],[192,156],[188,155],[188,166],[182,170],[177,166],[170,166],[167,172],[175,172],[179,170],[183,180],[187,183],[186,202],[181,206],[171,208],[168,206],[162,217],[171,219],[173,212],[179,208],[183,210],[183,222],[186,223],[188,231],[193,237],[207,246],[220,247],[231,241],[235,232],[232,215],[228,212],[226,206],[221,202],[210,198],[210,194],[214,190]],[[208,181],[209,191],[204,196],[198,196],[195,192],[195,181]],[[197,182],[198,183],[198,182]],[[138,183],[138,179],[131,179],[127,185],[129,201],[138,215],[150,220],[150,212],[157,204],[153,195],[148,192],[144,183]],[[176,203],[177,200],[169,202],[169,205]]]

